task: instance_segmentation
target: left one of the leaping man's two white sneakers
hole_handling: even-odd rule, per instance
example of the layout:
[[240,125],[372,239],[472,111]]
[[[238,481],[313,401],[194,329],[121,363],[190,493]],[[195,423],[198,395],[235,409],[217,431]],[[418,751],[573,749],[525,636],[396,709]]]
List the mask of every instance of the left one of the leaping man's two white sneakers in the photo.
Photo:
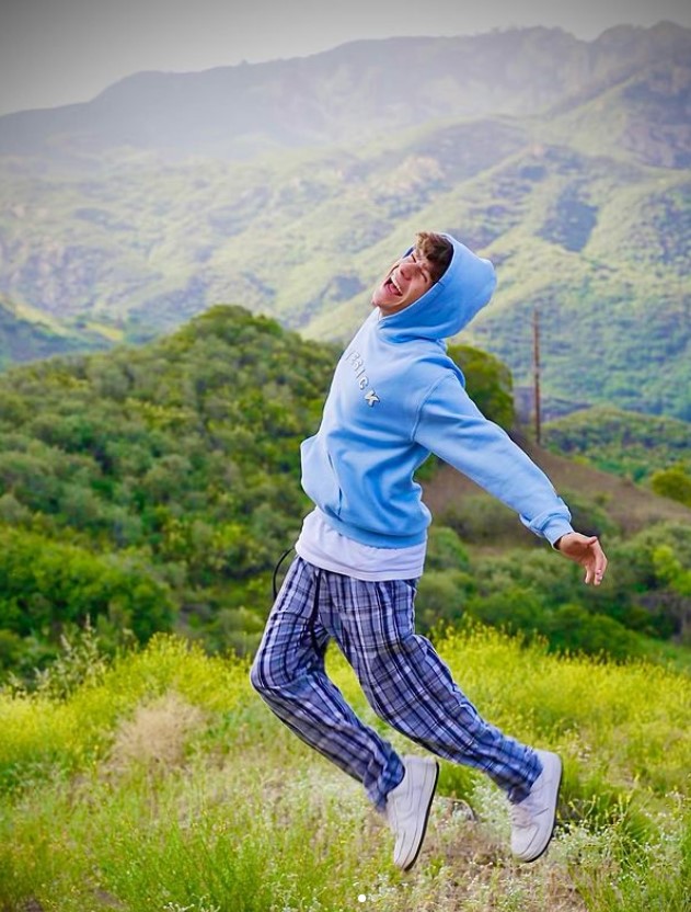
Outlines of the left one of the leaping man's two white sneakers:
[[439,764],[429,757],[404,756],[405,775],[387,796],[384,816],[396,837],[393,864],[410,870],[423,846]]

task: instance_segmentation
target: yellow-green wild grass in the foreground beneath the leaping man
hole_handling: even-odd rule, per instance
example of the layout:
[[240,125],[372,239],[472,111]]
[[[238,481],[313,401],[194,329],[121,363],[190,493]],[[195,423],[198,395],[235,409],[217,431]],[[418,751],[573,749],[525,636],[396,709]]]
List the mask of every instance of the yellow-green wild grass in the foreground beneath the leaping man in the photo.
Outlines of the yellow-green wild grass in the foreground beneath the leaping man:
[[564,757],[543,860],[516,865],[502,794],[445,763],[423,854],[401,875],[359,786],[268,713],[246,664],[157,637],[64,700],[0,695],[0,909],[688,909],[691,681],[495,631],[439,649],[486,718]]

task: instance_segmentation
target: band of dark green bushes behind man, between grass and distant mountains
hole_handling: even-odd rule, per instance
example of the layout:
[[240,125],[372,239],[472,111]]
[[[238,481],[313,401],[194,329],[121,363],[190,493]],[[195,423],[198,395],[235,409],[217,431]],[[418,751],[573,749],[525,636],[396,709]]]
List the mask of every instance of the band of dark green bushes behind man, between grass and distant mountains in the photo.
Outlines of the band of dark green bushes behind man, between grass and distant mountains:
[[[506,368],[451,351],[481,408],[509,426]],[[42,666],[88,619],[110,649],[175,628],[211,650],[251,651],[272,570],[308,508],[299,443],[318,426],[336,356],[217,307],[143,347],[5,375],[0,675]],[[586,602],[577,573],[561,561],[557,571],[549,551],[469,558],[462,538],[482,539],[492,516],[476,513],[474,528],[458,512],[445,522],[421,589],[424,629],[472,617],[615,654],[634,652],[640,635],[687,630],[688,529],[622,544],[633,549],[622,552],[625,582]]]

